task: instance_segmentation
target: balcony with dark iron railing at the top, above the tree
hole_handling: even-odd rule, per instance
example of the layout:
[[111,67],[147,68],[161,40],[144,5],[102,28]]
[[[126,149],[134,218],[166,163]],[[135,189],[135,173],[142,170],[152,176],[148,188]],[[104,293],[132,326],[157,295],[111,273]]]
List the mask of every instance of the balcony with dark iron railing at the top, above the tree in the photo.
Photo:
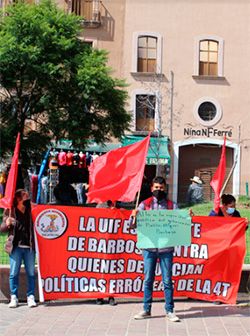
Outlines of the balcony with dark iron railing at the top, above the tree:
[[100,0],[71,0],[68,2],[69,12],[81,16],[82,26],[98,28],[101,25],[101,1]]

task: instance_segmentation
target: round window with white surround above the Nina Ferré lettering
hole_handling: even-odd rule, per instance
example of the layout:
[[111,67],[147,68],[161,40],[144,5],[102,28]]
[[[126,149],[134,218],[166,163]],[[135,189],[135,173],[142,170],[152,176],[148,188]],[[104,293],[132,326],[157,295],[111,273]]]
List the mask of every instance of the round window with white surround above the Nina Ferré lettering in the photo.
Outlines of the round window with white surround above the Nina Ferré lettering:
[[213,126],[221,119],[221,106],[215,99],[204,97],[196,102],[194,115],[200,124]]

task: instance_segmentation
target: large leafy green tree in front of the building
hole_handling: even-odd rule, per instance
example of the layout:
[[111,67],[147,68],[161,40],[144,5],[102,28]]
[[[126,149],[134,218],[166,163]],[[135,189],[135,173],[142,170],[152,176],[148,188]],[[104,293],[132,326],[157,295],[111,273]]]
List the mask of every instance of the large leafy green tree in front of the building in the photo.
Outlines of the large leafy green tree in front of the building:
[[18,131],[27,162],[51,139],[83,148],[128,129],[126,84],[112,78],[105,51],[80,41],[80,29],[80,18],[50,0],[17,2],[1,16],[1,155]]

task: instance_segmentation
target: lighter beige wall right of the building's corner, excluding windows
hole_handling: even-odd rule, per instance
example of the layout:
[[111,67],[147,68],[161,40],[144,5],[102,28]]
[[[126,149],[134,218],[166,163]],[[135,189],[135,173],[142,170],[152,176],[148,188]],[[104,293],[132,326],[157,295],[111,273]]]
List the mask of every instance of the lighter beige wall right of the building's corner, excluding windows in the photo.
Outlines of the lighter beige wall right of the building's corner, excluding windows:
[[[126,2],[123,75],[130,83],[130,97],[135,90],[154,88],[149,78],[131,75],[133,55],[136,53],[133,35],[135,32],[151,32],[159,34],[162,39],[162,73],[166,78],[166,83],[161,86],[162,126],[163,133],[171,136],[172,141],[172,183],[175,198],[178,191],[180,146],[200,143],[221,145],[223,131],[227,132],[227,145],[233,148],[234,156],[239,151],[240,157],[232,177],[231,192],[235,195],[244,194],[245,183],[250,182],[249,14],[248,1],[127,0]],[[195,76],[198,64],[197,41],[204,37],[221,41],[222,51],[219,56],[221,75],[218,78],[204,79]],[[217,129],[221,133],[217,132],[209,137],[184,134],[185,128],[194,131],[207,128],[197,121],[194,113],[195,105],[207,98],[211,98],[211,101],[215,101],[221,108],[221,117],[211,126],[211,132]],[[131,99],[133,100],[133,97]],[[239,139],[240,146],[238,146]]]

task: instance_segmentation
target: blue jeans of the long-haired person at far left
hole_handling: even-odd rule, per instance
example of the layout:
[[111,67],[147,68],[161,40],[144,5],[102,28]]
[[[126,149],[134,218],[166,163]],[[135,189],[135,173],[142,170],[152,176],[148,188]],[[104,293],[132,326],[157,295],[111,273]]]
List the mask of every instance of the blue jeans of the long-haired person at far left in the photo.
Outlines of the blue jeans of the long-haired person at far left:
[[29,248],[15,247],[10,254],[10,293],[18,297],[20,267],[24,261],[28,280],[27,296],[35,295],[35,251]]

